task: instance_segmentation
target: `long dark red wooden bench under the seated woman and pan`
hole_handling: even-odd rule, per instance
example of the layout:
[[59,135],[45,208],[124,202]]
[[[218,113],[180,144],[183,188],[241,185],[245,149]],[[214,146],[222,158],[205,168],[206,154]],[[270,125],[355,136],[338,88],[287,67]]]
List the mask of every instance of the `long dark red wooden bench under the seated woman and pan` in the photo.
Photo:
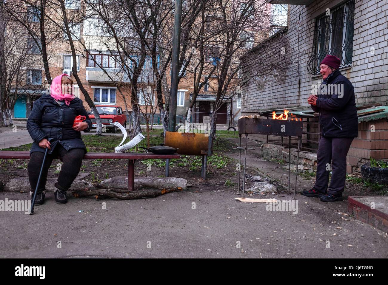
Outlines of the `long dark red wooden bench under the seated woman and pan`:
[[[88,152],[83,156],[83,159],[128,159],[128,191],[133,191],[133,183],[135,179],[135,162],[137,159],[172,158],[180,158],[180,155],[161,155],[134,152]],[[29,151],[0,150],[0,159],[29,159]]]

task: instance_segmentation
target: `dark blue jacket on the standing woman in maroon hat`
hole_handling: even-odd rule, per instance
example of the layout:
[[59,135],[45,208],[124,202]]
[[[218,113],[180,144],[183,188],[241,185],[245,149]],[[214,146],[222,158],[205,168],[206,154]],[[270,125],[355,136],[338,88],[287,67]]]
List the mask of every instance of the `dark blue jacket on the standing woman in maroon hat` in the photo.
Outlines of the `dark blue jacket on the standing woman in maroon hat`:
[[337,69],[321,84],[317,105],[322,136],[327,138],[355,138],[358,136],[358,117],[353,85]]

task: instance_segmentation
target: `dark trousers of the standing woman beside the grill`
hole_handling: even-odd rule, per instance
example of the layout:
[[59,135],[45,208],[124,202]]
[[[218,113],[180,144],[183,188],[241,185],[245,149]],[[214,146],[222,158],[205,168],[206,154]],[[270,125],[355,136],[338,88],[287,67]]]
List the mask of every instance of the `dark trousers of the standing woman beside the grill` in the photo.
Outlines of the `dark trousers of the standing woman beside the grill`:
[[[314,189],[321,193],[341,196],[346,180],[346,155],[353,138],[325,138],[321,137],[317,153],[317,176]],[[331,181],[329,188],[330,168]]]

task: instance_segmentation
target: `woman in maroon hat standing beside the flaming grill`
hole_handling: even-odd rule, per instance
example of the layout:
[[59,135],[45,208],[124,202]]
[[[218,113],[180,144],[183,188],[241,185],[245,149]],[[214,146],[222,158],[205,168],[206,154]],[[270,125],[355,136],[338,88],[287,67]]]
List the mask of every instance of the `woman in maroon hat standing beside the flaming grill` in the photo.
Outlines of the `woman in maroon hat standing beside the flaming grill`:
[[[310,95],[308,104],[319,112],[322,136],[317,153],[317,176],[314,187],[302,192],[320,197],[323,202],[342,201],[346,180],[346,155],[358,135],[357,109],[352,83],[338,70],[341,60],[326,55],[320,63],[323,82],[318,96]],[[332,168],[329,188],[329,174]]]

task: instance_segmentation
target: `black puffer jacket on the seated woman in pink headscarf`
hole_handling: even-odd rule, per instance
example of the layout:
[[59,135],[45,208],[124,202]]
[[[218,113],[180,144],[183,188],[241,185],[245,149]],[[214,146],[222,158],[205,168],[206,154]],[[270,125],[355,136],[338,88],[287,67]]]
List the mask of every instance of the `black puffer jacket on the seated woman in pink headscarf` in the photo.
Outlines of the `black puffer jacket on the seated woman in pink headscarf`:
[[86,153],[81,132],[73,129],[74,119],[78,115],[86,117],[84,122],[88,123],[88,128],[84,131],[89,131],[92,122],[80,98],[74,98],[69,105],[59,105],[50,95],[43,95],[36,100],[27,120],[28,133],[34,140],[30,153],[45,152],[45,149],[39,147],[39,142],[43,138],[54,138],[49,154],[55,149],[57,143],[60,143],[66,150],[81,148]]

